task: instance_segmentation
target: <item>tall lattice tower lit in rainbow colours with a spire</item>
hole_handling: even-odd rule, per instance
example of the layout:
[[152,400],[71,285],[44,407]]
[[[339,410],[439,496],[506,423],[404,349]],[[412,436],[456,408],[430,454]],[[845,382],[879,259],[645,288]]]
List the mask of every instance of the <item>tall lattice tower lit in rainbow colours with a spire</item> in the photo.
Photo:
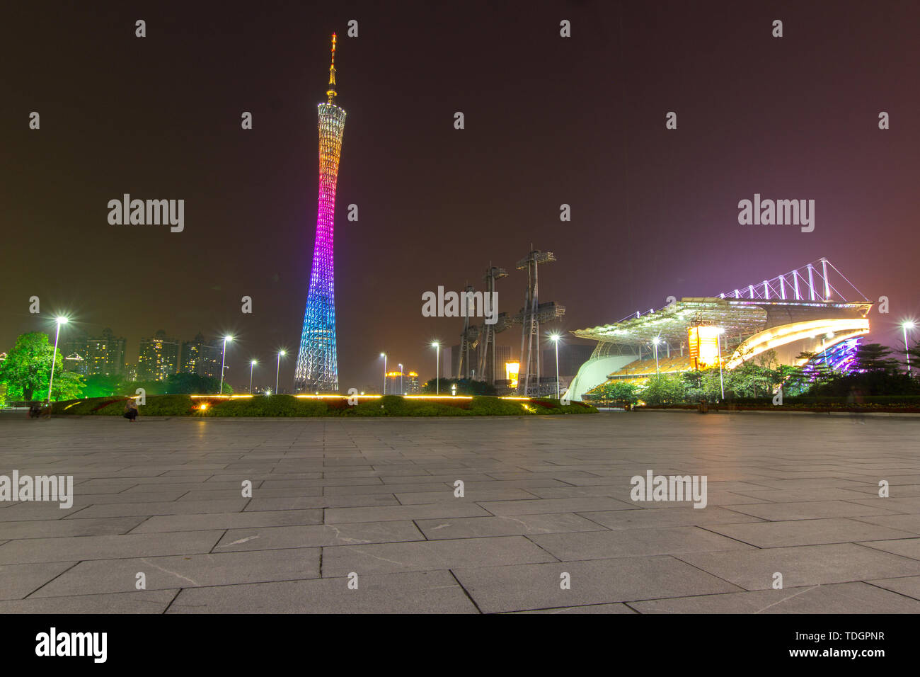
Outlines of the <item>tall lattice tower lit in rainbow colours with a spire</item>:
[[316,206],[316,244],[310,289],[306,297],[304,330],[294,371],[294,392],[339,390],[336,358],[336,294],[332,240],[335,230],[336,182],[345,111],[336,99],[336,35],[332,34],[332,64],[329,66],[328,100],[317,106],[319,114],[319,199]]

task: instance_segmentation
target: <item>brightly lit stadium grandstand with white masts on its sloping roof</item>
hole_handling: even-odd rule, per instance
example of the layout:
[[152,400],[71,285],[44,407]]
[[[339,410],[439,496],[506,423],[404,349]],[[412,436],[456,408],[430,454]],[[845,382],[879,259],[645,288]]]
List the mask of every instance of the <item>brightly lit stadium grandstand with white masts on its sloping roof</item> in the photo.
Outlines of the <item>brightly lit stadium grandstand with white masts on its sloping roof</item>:
[[[849,301],[831,283],[862,300]],[[772,350],[780,364],[811,359],[835,369],[852,364],[859,337],[868,333],[872,303],[827,259],[717,297],[673,299],[598,327],[572,332],[597,341],[569,384],[566,397],[581,400],[608,380],[642,383],[656,373],[719,366],[736,368]]]

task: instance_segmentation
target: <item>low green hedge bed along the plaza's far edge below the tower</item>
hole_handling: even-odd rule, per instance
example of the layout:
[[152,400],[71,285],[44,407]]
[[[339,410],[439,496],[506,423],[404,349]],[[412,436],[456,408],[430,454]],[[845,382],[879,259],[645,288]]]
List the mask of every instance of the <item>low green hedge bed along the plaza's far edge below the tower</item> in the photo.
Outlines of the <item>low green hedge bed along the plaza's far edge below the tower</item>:
[[[54,414],[121,416],[128,398],[98,397],[53,403]],[[416,400],[397,395],[349,405],[346,400],[307,400],[293,395],[222,400],[189,395],[148,395],[139,407],[143,416],[523,416],[532,414],[591,414],[582,403],[558,400],[528,402],[477,396],[472,400]]]

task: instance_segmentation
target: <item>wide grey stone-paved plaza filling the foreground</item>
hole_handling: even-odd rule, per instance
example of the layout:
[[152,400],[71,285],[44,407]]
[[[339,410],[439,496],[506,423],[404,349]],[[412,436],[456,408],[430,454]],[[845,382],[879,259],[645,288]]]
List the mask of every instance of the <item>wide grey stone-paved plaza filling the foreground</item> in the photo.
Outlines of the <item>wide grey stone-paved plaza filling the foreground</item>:
[[[0,503],[0,613],[918,613],[918,438],[795,414],[0,414],[0,474],[75,494]],[[633,501],[648,471],[705,475],[706,508]]]

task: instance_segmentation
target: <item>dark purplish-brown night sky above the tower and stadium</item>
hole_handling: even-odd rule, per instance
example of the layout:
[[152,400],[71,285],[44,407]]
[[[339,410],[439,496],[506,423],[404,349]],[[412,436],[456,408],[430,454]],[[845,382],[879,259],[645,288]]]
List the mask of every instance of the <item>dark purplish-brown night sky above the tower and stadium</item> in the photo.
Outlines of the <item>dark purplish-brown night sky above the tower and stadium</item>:
[[[563,331],[822,256],[869,299],[891,299],[891,314],[869,316],[874,340],[896,344],[897,322],[920,315],[916,2],[441,5],[7,4],[0,351],[59,312],[125,336],[132,362],[159,329],[229,332],[234,386],[247,385],[251,357],[273,363],[283,346],[290,388],[332,32],[348,111],[335,243],[343,391],[379,388],[381,351],[391,368],[433,376],[428,344],[457,343],[462,320],[422,317],[424,291],[482,288],[491,262],[511,274],[500,310],[516,312],[526,275],[513,268],[531,242],[558,257],[541,269],[540,298],[567,307]],[[352,18],[358,38],[346,35]],[[107,204],[123,193],[184,199],[184,231],[110,226]],[[814,231],[739,225],[738,202],[754,193],[815,200]],[[29,315],[33,295],[41,317]],[[500,344],[516,354],[520,337],[513,328]]]

